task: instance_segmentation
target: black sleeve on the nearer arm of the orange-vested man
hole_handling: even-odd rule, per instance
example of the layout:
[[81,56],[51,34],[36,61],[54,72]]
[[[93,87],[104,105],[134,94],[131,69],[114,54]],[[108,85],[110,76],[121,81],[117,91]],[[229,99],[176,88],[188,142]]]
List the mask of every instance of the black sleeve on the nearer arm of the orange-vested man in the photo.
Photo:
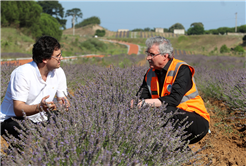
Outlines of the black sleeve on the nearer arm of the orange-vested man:
[[182,65],[179,69],[175,82],[172,85],[171,93],[160,97],[161,102],[168,103],[169,106],[178,106],[183,96],[192,87],[192,74],[188,66]]

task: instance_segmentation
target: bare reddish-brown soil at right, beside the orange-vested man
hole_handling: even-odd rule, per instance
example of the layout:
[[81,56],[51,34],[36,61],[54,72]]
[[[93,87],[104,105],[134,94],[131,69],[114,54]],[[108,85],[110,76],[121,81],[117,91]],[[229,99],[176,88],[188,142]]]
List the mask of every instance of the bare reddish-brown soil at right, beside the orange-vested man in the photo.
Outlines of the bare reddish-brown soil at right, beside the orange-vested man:
[[246,117],[228,114],[229,109],[222,102],[211,101],[206,102],[211,116],[211,133],[200,142],[189,145],[190,148],[193,151],[203,148],[200,154],[206,164],[246,166]]

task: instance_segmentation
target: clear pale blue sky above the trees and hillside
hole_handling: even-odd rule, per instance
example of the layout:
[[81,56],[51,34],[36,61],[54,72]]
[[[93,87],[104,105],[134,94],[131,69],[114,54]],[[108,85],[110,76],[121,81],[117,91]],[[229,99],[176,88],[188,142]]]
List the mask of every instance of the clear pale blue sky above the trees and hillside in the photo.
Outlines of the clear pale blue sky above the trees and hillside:
[[[205,30],[246,24],[246,0],[58,0],[64,12],[79,8],[78,23],[97,16],[100,26],[110,30],[135,28],[169,28],[181,23],[188,30],[202,22]],[[236,14],[237,13],[237,14]],[[236,19],[237,17],[237,19]],[[66,17],[72,27],[72,16]]]

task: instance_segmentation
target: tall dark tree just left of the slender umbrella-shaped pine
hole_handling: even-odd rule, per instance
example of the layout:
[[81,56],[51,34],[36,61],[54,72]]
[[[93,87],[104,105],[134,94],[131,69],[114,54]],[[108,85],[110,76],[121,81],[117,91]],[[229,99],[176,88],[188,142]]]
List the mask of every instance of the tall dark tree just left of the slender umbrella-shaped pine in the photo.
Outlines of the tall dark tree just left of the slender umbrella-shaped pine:
[[43,8],[44,13],[55,17],[63,29],[66,29],[67,20],[63,19],[64,8],[58,0],[38,0],[37,3]]

